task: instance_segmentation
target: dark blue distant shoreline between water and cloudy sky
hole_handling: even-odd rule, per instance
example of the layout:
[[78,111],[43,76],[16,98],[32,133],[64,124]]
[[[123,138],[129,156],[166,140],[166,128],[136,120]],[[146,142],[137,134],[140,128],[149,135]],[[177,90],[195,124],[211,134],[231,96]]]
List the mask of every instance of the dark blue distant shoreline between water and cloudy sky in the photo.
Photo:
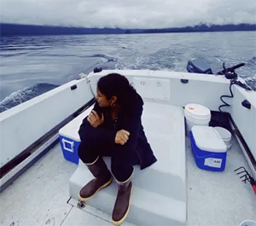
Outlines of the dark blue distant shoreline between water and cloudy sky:
[[1,36],[144,34],[180,32],[255,32],[256,24],[171,27],[160,29],[86,28],[71,26],[34,26],[0,23]]

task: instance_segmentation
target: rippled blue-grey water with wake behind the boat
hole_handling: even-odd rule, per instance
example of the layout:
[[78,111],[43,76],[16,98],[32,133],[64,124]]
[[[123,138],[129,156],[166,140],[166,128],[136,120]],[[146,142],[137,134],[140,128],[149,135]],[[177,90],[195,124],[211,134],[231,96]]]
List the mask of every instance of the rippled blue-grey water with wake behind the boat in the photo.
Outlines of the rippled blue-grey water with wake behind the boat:
[[256,90],[255,40],[256,32],[1,37],[0,112],[94,67],[186,72],[192,58],[212,72],[244,62],[236,72]]

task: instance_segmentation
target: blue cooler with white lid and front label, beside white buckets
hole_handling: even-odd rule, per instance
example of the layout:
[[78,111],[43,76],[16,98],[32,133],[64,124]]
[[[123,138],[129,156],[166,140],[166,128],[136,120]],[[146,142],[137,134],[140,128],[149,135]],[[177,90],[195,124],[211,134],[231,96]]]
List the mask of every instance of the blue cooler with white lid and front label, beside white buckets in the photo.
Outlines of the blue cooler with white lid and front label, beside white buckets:
[[189,132],[196,165],[207,171],[224,171],[227,147],[213,127],[194,125]]

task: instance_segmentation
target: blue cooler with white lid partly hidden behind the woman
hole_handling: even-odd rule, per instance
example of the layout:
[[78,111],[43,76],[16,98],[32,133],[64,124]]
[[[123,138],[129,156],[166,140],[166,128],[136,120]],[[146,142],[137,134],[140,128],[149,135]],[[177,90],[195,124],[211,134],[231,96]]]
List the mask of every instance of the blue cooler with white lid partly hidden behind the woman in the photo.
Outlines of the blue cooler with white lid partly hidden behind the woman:
[[84,113],[79,114],[67,125],[59,130],[59,138],[61,143],[62,153],[65,159],[73,163],[79,164],[79,128],[83,119],[91,112],[93,107],[89,107]]

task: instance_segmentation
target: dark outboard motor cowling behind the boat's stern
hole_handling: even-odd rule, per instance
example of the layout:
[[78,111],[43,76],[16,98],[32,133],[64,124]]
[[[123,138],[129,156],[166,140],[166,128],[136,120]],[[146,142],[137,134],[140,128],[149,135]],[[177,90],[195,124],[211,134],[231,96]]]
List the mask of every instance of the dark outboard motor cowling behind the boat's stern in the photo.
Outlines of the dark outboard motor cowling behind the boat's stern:
[[187,64],[187,70],[191,73],[207,73],[212,74],[211,67],[207,64],[207,62],[202,61],[201,59],[192,59]]

